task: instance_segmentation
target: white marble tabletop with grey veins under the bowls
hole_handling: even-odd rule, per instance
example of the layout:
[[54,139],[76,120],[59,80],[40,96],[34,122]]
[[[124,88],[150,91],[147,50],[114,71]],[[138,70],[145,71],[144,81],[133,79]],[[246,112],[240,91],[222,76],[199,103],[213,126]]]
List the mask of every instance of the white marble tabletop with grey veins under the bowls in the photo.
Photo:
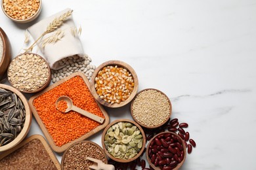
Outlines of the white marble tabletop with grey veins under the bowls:
[[[129,63],[139,90],[165,92],[171,117],[188,122],[197,146],[182,169],[256,169],[256,1],[43,0],[35,22],[67,7],[94,65]],[[0,12],[13,57],[33,23],[15,24]],[[131,118],[129,106],[108,113],[111,121]],[[43,135],[35,119],[32,134]],[[100,135],[89,140],[100,144]]]

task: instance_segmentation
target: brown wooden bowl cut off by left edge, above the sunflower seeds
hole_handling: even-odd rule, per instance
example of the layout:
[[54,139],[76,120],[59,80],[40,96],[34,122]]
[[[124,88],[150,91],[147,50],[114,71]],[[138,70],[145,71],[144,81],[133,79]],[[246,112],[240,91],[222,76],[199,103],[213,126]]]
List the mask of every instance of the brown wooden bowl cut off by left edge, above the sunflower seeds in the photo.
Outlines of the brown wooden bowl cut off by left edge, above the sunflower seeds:
[[0,79],[5,74],[11,61],[11,45],[5,31],[0,27],[0,41],[3,41],[3,56],[0,60]]

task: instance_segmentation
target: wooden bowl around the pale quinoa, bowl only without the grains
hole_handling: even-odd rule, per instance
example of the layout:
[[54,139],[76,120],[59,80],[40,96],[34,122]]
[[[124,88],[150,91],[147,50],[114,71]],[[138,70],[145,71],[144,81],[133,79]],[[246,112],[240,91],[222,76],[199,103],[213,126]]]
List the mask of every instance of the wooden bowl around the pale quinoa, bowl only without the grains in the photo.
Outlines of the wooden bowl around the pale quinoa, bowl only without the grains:
[[[139,120],[137,120],[137,118],[135,118],[134,114],[133,114],[133,103],[136,99],[136,97],[141,93],[141,92],[144,92],[146,90],[156,90],[157,92],[160,92],[161,94],[163,94],[167,100],[168,100],[168,103],[170,105],[170,112],[169,112],[169,116],[167,116],[166,120],[164,120],[161,124],[159,124],[158,126],[146,126],[144,124],[142,124],[141,122],[139,122]],[[147,129],[155,129],[155,128],[158,128],[158,127],[161,127],[163,124],[165,124],[169,118],[171,117],[171,110],[172,110],[172,106],[171,106],[171,101],[169,99],[169,97],[167,95],[165,95],[165,93],[161,92],[160,90],[157,90],[157,89],[154,89],[154,88],[146,88],[144,90],[141,90],[139,93],[137,93],[137,95],[135,95],[135,97],[133,98],[133,101],[131,102],[131,116],[133,116],[133,119],[135,120],[135,122],[137,122],[140,126],[142,127],[146,127]],[[146,114],[146,112],[145,112]],[[158,118],[158,116],[156,116],[156,118]]]

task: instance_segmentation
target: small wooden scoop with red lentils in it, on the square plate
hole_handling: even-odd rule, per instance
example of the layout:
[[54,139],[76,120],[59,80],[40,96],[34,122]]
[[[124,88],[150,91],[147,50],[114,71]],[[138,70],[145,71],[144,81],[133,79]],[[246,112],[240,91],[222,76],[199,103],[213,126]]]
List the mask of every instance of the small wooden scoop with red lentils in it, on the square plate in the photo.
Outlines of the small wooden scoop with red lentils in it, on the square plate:
[[79,107],[75,107],[73,105],[72,99],[70,99],[70,97],[65,95],[58,97],[56,101],[56,108],[60,112],[69,112],[70,110],[74,110],[75,112],[78,112],[79,114],[83,114],[83,116],[87,116],[88,118],[91,118],[92,120],[95,120],[100,124],[104,122],[104,118],[101,118],[100,116],[92,114],[91,112],[87,112],[86,110],[80,109]]

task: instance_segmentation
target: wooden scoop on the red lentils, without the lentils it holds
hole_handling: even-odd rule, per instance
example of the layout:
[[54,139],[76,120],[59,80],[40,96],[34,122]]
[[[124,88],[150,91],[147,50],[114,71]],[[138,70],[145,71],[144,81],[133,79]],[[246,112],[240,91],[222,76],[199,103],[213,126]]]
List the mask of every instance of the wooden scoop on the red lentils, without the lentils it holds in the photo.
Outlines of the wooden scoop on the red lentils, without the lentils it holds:
[[[75,107],[73,105],[72,99],[70,97],[62,95],[58,97],[56,101],[56,108],[58,109],[58,102],[59,101],[66,101],[68,108],[64,112],[69,112],[70,110],[74,110],[75,112],[78,112],[79,114],[83,114],[83,116],[87,116],[88,118],[91,118],[92,120],[95,120],[96,122],[102,124],[104,122],[104,118],[101,118],[100,116],[97,116],[95,114],[92,114],[91,112],[87,112],[86,110],[80,109],[79,107]],[[59,110],[59,109],[58,109]],[[63,110],[59,110],[60,112],[63,112]]]

